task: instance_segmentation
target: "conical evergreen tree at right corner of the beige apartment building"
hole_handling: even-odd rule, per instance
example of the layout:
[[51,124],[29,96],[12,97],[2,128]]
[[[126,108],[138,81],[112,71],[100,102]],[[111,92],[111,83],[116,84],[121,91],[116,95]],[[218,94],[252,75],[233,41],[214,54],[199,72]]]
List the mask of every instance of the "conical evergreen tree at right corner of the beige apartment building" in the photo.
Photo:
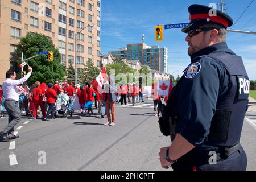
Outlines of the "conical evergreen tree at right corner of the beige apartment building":
[[92,59],[88,59],[87,63],[84,64],[84,68],[81,69],[81,72],[79,74],[80,82],[92,82],[99,73],[100,70],[98,70],[97,67],[94,67]]

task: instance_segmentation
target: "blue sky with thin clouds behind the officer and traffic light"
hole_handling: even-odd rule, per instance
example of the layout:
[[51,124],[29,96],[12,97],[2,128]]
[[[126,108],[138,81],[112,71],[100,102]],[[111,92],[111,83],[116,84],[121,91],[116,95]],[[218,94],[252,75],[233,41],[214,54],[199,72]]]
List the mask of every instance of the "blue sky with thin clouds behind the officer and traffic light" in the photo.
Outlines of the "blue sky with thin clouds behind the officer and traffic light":
[[[236,24],[229,29],[256,32],[256,0],[223,0],[225,13]],[[192,4],[209,6],[220,0],[102,0],[101,53],[118,50],[130,43],[166,47],[169,50],[169,73],[176,78],[189,65],[188,44],[181,28],[164,30],[163,41],[155,42],[154,27],[158,24],[188,23],[188,7]],[[251,5],[246,10],[247,6]],[[218,6],[220,9],[220,6]],[[246,10],[246,11],[245,11]],[[245,11],[245,13],[240,15]],[[238,21],[237,21],[238,20]],[[242,56],[250,80],[256,80],[256,35],[228,32],[226,42]]]

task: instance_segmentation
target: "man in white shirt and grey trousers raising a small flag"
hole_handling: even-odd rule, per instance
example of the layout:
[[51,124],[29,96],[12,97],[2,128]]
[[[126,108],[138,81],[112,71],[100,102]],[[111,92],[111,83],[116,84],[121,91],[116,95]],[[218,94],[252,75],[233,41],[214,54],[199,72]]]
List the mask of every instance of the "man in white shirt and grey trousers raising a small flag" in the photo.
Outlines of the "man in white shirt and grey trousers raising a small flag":
[[19,94],[17,85],[23,84],[30,77],[32,68],[28,67],[28,73],[20,80],[16,79],[16,73],[14,71],[6,72],[6,79],[3,82],[3,96],[5,96],[4,106],[7,110],[9,119],[8,126],[0,132],[0,142],[8,142],[11,139],[19,138],[14,135],[14,126],[21,120],[21,112],[19,109]]

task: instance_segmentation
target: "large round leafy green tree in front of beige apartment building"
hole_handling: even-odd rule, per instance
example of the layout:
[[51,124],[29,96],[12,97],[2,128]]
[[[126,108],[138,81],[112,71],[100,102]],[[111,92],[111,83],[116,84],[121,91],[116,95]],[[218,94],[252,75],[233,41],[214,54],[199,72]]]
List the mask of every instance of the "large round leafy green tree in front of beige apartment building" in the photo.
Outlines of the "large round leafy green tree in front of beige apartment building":
[[[47,36],[27,33],[20,39],[16,49],[19,57],[21,57],[22,52],[24,53],[24,59],[35,56],[39,51],[53,51],[53,61],[48,61],[48,55],[40,55],[27,60],[26,63],[32,67],[32,75],[28,79],[28,84],[31,85],[35,81],[53,83],[55,80],[64,80],[66,71],[65,67],[61,65],[59,50],[54,47],[52,40],[48,39]],[[21,60],[19,60],[20,63]],[[24,71],[27,71],[27,68],[24,67]]]

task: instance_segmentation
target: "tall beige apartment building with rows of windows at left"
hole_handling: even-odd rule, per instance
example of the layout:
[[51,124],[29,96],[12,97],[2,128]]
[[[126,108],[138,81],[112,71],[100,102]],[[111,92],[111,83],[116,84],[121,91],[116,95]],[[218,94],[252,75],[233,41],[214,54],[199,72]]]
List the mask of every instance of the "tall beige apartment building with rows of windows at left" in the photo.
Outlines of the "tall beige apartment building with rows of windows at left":
[[68,65],[76,59],[78,72],[88,59],[100,68],[100,17],[101,0],[1,1],[0,82],[5,80],[8,69],[17,69],[16,60],[10,57],[27,32],[46,35],[59,48],[61,63]]

